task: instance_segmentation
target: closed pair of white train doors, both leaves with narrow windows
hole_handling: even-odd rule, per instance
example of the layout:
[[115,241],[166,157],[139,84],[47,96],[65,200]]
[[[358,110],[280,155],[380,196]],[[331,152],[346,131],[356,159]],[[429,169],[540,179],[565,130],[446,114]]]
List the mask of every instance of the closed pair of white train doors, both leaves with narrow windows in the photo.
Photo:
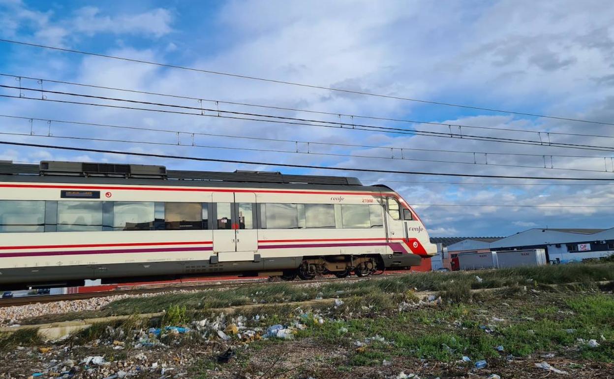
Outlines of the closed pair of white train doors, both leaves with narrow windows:
[[258,249],[255,193],[213,193],[213,251],[219,262],[254,260]]

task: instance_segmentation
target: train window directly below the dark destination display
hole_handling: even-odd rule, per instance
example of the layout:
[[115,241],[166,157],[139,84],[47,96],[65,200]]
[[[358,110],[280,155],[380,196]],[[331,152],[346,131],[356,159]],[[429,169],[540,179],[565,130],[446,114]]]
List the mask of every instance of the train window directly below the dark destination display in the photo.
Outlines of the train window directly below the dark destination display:
[[58,201],[58,232],[103,230],[102,201]]

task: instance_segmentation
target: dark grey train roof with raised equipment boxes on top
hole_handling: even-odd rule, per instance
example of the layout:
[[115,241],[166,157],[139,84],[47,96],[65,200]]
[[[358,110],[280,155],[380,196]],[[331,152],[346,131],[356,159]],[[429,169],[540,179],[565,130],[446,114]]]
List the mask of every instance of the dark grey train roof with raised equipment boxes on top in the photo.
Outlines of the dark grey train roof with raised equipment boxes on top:
[[282,174],[279,171],[166,170],[157,165],[41,161],[39,165],[0,161],[0,180],[157,186],[257,187],[388,191],[386,186],[363,186],[358,178]]

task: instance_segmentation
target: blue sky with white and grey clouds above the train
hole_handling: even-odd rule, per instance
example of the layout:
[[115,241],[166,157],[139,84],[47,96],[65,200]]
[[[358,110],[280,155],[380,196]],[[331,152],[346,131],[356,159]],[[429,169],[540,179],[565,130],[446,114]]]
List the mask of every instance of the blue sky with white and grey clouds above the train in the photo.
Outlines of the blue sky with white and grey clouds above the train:
[[[614,7],[607,1],[0,0],[1,39],[317,87],[604,123],[614,120],[613,19]],[[356,176],[364,184],[397,190],[415,205],[431,236],[507,236],[534,227],[614,227],[614,208],[587,207],[614,206],[614,184],[608,181],[397,173],[614,179],[611,151],[466,137],[550,138],[554,143],[612,147],[612,125],[335,92],[7,42],[0,42],[0,73],[6,74],[0,76],[0,85],[31,88],[0,87],[0,95],[15,96],[0,97],[2,141],[394,173],[9,145],[0,146],[0,160]],[[36,91],[41,88],[174,107]],[[220,115],[261,121],[217,117],[217,109]],[[309,125],[284,119],[262,122],[271,119],[244,113],[319,120],[329,127],[311,121],[302,122]],[[92,123],[98,125],[87,125]],[[452,133],[453,138],[359,130],[356,125]],[[459,131],[446,125],[464,127]]]

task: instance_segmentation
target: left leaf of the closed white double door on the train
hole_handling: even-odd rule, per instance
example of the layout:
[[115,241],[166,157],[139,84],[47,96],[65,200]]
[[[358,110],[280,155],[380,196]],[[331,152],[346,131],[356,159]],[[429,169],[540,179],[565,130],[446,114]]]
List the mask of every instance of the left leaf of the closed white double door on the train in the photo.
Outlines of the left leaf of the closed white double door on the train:
[[233,205],[235,195],[232,192],[214,192],[213,208],[215,219],[213,220],[213,251],[218,253],[218,259],[226,253],[236,251],[236,232],[233,229]]

